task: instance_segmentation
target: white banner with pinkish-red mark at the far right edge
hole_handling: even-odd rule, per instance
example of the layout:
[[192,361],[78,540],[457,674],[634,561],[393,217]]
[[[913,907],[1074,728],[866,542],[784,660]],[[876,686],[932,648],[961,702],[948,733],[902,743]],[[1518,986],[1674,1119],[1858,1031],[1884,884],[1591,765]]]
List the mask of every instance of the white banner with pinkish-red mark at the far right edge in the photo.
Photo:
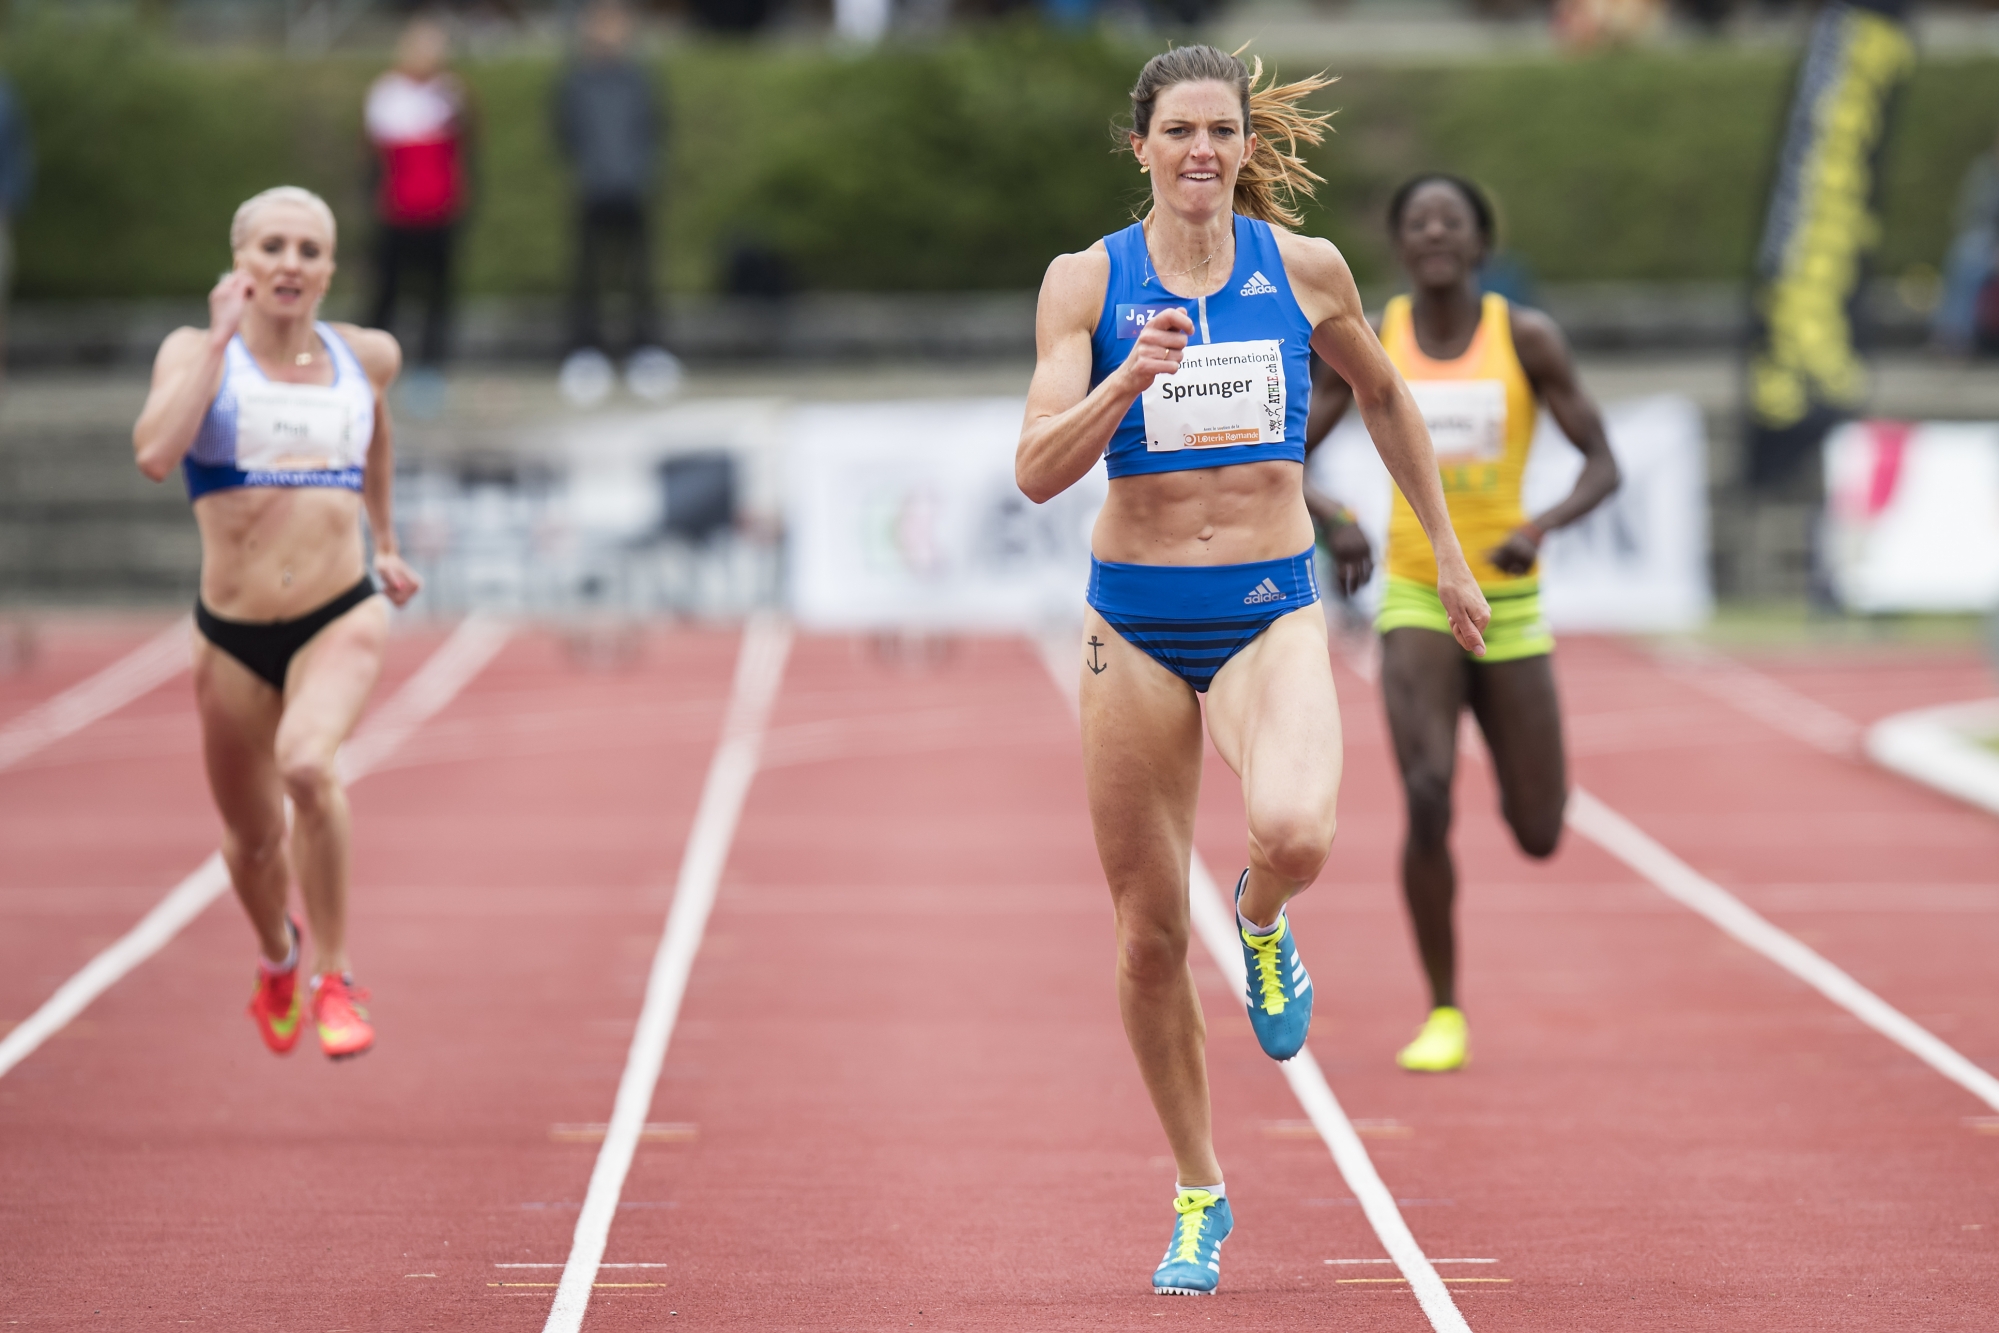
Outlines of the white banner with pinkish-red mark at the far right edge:
[[1999,606],[1999,422],[1831,432],[1821,556],[1855,612]]

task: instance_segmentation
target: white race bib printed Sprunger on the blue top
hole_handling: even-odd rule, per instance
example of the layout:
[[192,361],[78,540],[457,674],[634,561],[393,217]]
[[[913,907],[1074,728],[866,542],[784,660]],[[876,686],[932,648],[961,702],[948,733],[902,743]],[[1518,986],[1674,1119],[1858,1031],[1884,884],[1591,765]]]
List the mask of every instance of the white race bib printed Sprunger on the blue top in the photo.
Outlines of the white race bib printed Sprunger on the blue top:
[[1283,342],[1187,346],[1179,370],[1139,398],[1145,452],[1283,444]]

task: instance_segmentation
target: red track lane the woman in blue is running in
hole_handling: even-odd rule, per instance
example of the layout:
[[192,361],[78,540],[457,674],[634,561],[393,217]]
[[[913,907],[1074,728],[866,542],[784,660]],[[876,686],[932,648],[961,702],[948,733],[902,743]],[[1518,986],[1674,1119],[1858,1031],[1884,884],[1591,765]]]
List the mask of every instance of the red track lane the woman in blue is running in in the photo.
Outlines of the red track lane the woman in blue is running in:
[[[900,729],[960,709],[986,725]],[[776,763],[750,793],[654,1103],[696,1137],[642,1145],[628,1187],[678,1207],[622,1215],[608,1257],[672,1263],[690,1327],[1281,1329],[1347,1301],[1427,1329],[1407,1291],[1333,1285],[1329,1247],[1379,1253],[1359,1209],[1277,1203],[1345,1191],[1215,995],[1243,1223],[1227,1295],[1151,1295],[1173,1167],[1115,1017],[1075,723],[1031,646],[908,671],[800,640],[770,753],[836,733],[846,753]],[[586,1327],[658,1315],[632,1295]]]

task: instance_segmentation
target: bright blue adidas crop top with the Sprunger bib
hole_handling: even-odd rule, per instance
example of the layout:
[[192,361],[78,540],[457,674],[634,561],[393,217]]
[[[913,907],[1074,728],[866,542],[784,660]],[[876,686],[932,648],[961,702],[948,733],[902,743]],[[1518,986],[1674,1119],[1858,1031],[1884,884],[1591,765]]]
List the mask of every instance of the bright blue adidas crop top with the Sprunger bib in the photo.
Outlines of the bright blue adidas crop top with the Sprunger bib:
[[1269,224],[1235,218],[1235,270],[1205,298],[1173,296],[1153,274],[1145,228],[1103,238],[1111,280],[1091,338],[1089,388],[1131,356],[1131,340],[1161,310],[1185,310],[1193,336],[1179,370],[1159,376],[1111,434],[1113,478],[1305,462],[1311,408],[1311,326],[1291,296]]

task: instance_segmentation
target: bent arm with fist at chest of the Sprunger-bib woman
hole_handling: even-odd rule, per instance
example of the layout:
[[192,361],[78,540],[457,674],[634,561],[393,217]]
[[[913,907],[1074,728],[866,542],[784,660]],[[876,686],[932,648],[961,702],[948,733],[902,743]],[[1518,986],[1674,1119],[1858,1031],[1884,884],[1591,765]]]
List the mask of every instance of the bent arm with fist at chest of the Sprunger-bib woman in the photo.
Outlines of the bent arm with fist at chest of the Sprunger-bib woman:
[[1097,466],[1131,402],[1155,378],[1179,370],[1179,352],[1193,334],[1185,310],[1155,314],[1131,342],[1123,366],[1089,388],[1089,338],[1109,280],[1111,260],[1101,246],[1057,256],[1041,278],[1041,302],[1033,312],[1033,384],[1013,454],[1013,480],[1035,504],[1053,500]]

